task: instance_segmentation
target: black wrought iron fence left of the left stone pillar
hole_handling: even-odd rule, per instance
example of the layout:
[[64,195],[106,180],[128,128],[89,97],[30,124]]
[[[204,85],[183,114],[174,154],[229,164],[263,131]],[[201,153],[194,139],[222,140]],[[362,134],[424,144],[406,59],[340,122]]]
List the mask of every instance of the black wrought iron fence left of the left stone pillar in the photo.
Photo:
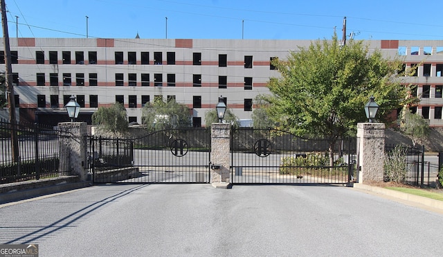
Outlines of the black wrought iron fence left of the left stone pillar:
[[[17,144],[12,142],[13,133]],[[71,134],[53,127],[1,120],[0,184],[70,175],[69,154],[60,154],[59,145],[71,139]],[[66,159],[60,161],[60,156]]]

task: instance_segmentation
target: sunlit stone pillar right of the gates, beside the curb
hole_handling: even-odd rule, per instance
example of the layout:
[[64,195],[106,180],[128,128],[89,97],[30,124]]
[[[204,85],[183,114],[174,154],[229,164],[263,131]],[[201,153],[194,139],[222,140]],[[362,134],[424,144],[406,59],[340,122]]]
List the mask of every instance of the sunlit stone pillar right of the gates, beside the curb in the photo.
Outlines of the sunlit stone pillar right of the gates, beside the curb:
[[367,184],[383,181],[385,157],[384,123],[357,124],[357,157],[359,175],[357,182]]

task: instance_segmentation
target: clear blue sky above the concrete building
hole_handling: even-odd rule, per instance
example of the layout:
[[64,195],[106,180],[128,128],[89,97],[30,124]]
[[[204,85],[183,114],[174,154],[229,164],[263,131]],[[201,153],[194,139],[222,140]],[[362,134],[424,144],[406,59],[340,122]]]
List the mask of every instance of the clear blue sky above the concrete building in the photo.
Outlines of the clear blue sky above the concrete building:
[[[443,40],[441,8],[420,1],[6,0],[10,37]],[[89,18],[87,19],[88,16]],[[168,17],[168,20],[165,19]],[[88,23],[88,26],[87,26]]]

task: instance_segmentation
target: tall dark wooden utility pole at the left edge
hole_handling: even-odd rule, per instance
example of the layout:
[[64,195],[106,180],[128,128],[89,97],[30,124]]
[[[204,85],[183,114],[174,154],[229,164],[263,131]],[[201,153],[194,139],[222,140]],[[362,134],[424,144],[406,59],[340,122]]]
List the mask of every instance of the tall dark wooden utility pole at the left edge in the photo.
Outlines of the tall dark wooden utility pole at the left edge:
[[1,26],[3,28],[3,45],[5,46],[5,77],[6,77],[6,91],[8,94],[9,105],[9,120],[11,123],[11,142],[12,142],[12,161],[19,160],[19,141],[17,139],[17,120],[15,118],[15,97],[14,86],[12,85],[12,65],[11,65],[11,51],[9,46],[8,34],[8,19],[6,19],[6,3],[5,0],[1,2]]

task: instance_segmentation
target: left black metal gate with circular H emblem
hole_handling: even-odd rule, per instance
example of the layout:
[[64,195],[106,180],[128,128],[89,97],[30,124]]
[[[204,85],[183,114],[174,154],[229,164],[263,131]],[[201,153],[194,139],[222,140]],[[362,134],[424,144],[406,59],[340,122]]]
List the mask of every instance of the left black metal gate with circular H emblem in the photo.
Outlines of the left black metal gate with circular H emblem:
[[93,183],[209,183],[210,130],[161,130],[137,139],[90,137]]

